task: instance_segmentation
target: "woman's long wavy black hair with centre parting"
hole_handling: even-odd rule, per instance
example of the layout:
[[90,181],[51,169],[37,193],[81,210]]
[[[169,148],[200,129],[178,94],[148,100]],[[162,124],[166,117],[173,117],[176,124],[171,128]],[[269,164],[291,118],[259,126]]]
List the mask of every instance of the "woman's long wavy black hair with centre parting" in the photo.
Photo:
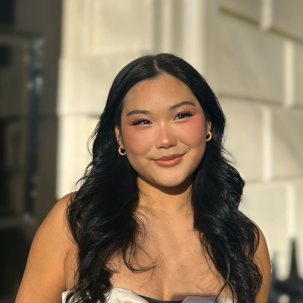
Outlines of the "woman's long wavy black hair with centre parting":
[[121,126],[123,98],[133,85],[163,73],[187,84],[200,102],[206,120],[211,121],[212,138],[193,174],[190,193],[193,227],[199,232],[201,248],[225,281],[221,291],[230,288],[239,303],[256,301],[262,284],[254,262],[259,233],[238,210],[244,180],[225,157],[225,116],[214,92],[195,68],[175,55],[161,53],[138,58],[118,73],[92,135],[92,161],[67,208],[68,224],[78,248],[77,283],[67,302],[72,296],[85,303],[105,302],[111,288],[109,278],[115,270],[108,266],[108,261],[116,253],[123,256],[129,269],[140,270],[132,264],[138,232],[142,231],[136,215],[137,172],[127,157],[118,154],[113,121]]

